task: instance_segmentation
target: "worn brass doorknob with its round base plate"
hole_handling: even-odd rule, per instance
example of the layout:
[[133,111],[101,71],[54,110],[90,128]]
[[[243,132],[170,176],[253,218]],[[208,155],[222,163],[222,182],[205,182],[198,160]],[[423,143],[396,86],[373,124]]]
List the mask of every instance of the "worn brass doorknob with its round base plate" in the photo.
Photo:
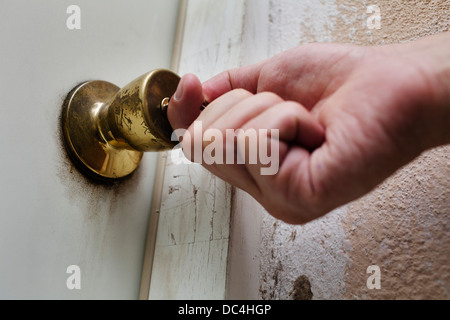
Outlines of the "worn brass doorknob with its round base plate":
[[66,149],[88,174],[117,179],[131,174],[143,152],[173,148],[168,99],[180,77],[164,69],[148,72],[120,89],[106,81],[75,87],[63,104]]

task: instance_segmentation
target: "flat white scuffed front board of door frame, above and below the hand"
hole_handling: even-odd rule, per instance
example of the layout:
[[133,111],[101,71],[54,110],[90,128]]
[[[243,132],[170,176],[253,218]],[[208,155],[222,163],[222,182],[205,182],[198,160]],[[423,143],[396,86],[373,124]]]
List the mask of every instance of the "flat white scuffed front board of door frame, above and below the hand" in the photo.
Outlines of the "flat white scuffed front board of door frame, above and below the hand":
[[[204,81],[234,67],[243,16],[239,0],[189,1],[179,74]],[[232,188],[177,156],[165,169],[149,298],[225,299]]]

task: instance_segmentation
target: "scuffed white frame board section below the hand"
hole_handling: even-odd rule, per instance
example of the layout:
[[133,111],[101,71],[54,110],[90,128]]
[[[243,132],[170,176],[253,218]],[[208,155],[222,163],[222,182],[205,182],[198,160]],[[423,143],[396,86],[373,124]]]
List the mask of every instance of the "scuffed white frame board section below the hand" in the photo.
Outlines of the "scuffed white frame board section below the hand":
[[224,299],[231,188],[200,165],[173,159],[165,169],[149,299]]

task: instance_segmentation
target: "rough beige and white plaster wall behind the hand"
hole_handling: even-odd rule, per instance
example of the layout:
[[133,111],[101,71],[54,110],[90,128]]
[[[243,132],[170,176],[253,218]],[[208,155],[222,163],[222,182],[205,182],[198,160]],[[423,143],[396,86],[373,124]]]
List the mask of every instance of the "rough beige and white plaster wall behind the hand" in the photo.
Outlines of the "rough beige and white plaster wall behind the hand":
[[[366,26],[368,5],[381,9],[379,30]],[[264,6],[269,23],[261,37],[268,37],[259,40],[266,42],[267,56],[314,41],[405,42],[450,26],[450,1],[444,0]],[[449,299],[450,146],[422,154],[370,194],[320,220],[290,226],[263,213],[262,225],[260,298],[308,297],[310,285],[313,299]],[[380,267],[379,290],[366,286],[370,265]]]

